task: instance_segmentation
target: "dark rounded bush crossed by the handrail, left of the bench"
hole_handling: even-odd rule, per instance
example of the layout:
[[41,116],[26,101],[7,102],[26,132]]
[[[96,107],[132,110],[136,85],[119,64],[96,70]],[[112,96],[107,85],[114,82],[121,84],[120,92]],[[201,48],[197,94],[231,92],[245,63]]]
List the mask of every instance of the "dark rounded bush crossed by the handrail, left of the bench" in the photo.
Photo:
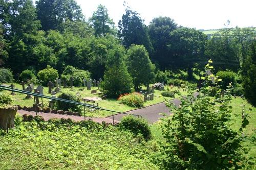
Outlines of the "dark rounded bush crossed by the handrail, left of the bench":
[[[75,101],[75,102],[81,102],[81,96],[80,95],[74,95],[72,93],[61,93],[60,95],[58,95],[58,98],[66,99],[66,100],[70,100],[70,101]],[[76,111],[78,113],[81,113],[81,107],[79,105],[76,105],[76,104],[69,104],[69,103],[66,103],[66,102],[57,101],[56,102],[56,107],[57,107],[57,110],[68,111],[69,109],[71,109],[72,111]]]

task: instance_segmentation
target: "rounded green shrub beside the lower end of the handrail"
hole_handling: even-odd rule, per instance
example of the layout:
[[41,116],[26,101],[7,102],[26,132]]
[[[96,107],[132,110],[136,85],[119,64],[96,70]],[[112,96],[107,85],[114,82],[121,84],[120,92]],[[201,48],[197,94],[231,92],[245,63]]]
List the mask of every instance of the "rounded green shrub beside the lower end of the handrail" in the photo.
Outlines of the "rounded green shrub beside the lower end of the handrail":
[[150,127],[143,118],[137,118],[132,115],[124,116],[119,126],[121,129],[129,130],[135,135],[142,134],[146,140],[151,138]]

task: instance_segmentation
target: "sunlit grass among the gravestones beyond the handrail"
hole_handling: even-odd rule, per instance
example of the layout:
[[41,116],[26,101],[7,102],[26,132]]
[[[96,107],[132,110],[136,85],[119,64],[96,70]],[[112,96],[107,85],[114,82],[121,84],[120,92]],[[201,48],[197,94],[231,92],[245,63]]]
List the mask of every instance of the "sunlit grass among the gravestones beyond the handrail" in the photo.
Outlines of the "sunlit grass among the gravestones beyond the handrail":
[[[22,89],[22,85],[17,84],[17,83],[14,83],[14,85],[15,85],[15,88]],[[37,86],[35,86],[35,87],[37,87]],[[98,88],[97,87],[92,87],[91,89],[92,90],[97,90]],[[146,89],[146,87],[143,87],[143,89]],[[167,86],[165,86],[165,89],[167,89]],[[173,89],[170,89],[170,90],[175,90],[175,89],[177,89],[177,87],[174,87]],[[91,94],[91,90],[87,90],[86,87],[74,87],[73,90],[71,88],[62,88],[61,91],[62,92],[71,92],[73,94],[80,94],[82,96],[82,98],[99,96],[99,95]],[[4,91],[4,92],[5,93],[10,93],[10,91]],[[97,92],[98,92],[98,90],[97,90]],[[181,95],[186,95],[187,94],[187,92],[183,91],[182,88],[180,88],[180,92],[181,92]],[[51,94],[48,93],[48,87],[44,87],[44,94],[48,95],[48,96],[51,96]],[[56,96],[58,96],[59,94],[60,93],[56,94]],[[26,94],[22,94],[22,93],[17,93],[15,95],[13,95],[14,104],[15,105],[20,105],[20,106],[31,107],[34,103],[34,99],[32,99],[32,98],[31,99],[25,99],[25,97],[26,97]],[[179,96],[176,95],[175,97],[178,98]],[[173,99],[173,98],[168,98],[168,97],[164,97],[164,98],[167,99],[167,100]],[[154,100],[145,102],[144,106],[149,106],[149,105],[153,105],[153,104],[163,102],[164,98],[161,95],[161,91],[155,89]],[[41,101],[41,99],[40,99],[40,101]],[[43,101],[45,106],[49,105],[49,100],[48,99],[42,99],[42,101]],[[101,108],[108,109],[108,110],[114,110],[114,111],[117,111],[117,112],[125,112],[125,111],[136,109],[134,107],[130,107],[130,106],[127,106],[127,105],[124,105],[124,104],[120,104],[116,99],[106,99],[106,100],[97,101],[96,103],[98,103]],[[88,103],[88,104],[90,104],[90,103]],[[91,112],[91,111],[89,111],[89,108],[88,108],[87,112],[86,112],[86,115],[87,116],[97,116],[97,112],[96,111]],[[109,115],[112,115],[112,112],[99,111],[99,116],[100,117],[105,117],[105,116],[109,116]]]

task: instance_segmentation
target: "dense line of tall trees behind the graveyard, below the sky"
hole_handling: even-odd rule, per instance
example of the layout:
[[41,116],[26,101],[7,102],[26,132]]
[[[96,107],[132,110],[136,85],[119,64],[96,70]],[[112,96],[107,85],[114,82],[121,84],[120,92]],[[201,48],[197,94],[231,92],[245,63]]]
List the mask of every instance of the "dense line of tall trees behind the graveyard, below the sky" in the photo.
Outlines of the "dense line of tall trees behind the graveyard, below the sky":
[[[14,76],[26,69],[36,75],[48,65],[61,75],[65,66],[72,65],[99,79],[110,51],[119,45],[126,48],[122,58],[130,60],[125,64],[131,75],[131,64],[144,56],[151,67],[144,76],[157,70],[184,70],[193,80],[194,68],[203,68],[208,59],[214,61],[216,72],[229,69],[245,74],[242,67],[255,41],[251,28],[222,29],[207,37],[162,16],[146,26],[140,14],[129,7],[116,28],[102,5],[88,19],[74,0],[38,0],[35,6],[31,0],[1,0],[0,6],[0,65],[10,68]],[[136,87],[150,82],[142,80],[133,77]]]

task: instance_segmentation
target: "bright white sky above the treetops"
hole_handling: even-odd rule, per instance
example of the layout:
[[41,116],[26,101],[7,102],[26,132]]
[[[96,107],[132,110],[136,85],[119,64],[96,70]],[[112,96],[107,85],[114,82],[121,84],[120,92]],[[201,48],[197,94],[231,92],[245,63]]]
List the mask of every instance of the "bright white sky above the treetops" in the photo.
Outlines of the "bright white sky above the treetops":
[[[99,4],[108,9],[115,25],[125,12],[123,0],[76,0],[86,19]],[[140,13],[144,23],[158,16],[168,16],[180,26],[196,29],[220,29],[230,20],[229,27],[256,27],[256,0],[126,0],[132,10]]]

